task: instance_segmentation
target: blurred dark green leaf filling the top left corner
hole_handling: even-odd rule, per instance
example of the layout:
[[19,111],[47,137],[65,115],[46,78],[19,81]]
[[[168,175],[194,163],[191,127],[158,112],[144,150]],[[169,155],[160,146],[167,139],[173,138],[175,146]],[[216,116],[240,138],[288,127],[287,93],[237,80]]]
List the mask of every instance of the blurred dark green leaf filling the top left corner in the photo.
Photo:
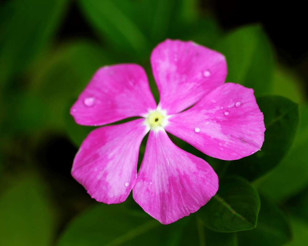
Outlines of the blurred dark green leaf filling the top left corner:
[[6,1],[0,12],[0,85],[24,69],[56,31],[67,0]]

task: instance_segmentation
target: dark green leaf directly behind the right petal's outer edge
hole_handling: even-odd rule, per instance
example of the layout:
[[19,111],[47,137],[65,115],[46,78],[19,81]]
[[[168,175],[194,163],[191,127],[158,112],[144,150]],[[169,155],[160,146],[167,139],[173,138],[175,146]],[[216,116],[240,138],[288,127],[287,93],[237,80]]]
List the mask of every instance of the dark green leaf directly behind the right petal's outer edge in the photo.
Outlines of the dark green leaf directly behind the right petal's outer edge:
[[232,161],[227,173],[237,174],[249,181],[274,168],[286,155],[298,127],[298,104],[281,96],[257,97],[264,114],[265,140],[261,151]]

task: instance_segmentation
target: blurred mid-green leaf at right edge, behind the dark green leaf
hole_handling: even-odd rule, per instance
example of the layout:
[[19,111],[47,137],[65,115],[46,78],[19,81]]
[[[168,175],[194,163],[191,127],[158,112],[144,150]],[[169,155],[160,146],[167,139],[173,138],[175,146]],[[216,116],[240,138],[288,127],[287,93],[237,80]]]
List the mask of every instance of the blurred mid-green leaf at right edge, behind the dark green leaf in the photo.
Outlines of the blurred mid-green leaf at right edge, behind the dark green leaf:
[[308,185],[308,105],[300,105],[300,121],[294,144],[286,157],[265,177],[258,189],[281,201]]

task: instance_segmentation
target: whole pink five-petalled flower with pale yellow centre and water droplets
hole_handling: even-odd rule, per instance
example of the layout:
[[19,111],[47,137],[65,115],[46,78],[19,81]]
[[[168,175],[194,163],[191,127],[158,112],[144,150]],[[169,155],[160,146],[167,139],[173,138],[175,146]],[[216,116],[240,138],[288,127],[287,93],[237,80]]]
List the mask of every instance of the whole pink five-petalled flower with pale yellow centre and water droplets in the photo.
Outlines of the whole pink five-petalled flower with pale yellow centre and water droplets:
[[167,39],[152,51],[151,65],[158,105],[140,65],[106,66],[94,74],[71,108],[78,124],[142,118],[93,130],[75,156],[72,175],[107,204],[125,201],[133,190],[145,212],[169,224],[206,204],[218,190],[218,177],[206,161],[174,145],[166,131],[209,156],[236,160],[261,148],[265,126],[253,89],[224,83],[222,54]]

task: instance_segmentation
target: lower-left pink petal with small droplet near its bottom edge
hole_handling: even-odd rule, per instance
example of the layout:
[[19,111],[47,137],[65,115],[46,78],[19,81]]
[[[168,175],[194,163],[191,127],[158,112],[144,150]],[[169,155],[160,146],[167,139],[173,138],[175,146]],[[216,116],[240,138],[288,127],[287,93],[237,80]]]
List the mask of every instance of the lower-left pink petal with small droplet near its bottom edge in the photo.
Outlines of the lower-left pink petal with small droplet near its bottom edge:
[[107,204],[124,202],[136,183],[144,119],[93,130],[75,156],[72,176],[92,198]]

